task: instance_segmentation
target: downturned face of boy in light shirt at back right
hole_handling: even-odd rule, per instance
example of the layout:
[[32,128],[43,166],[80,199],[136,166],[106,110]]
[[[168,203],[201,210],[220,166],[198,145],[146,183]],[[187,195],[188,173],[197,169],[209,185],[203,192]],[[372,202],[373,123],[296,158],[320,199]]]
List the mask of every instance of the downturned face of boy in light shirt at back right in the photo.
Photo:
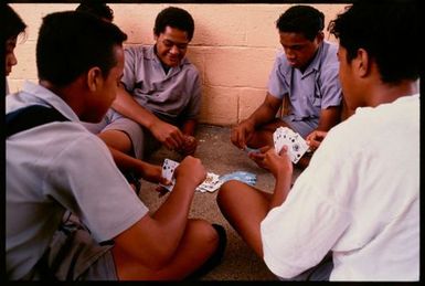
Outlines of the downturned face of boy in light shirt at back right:
[[318,34],[315,40],[309,41],[301,33],[279,32],[280,44],[284,47],[289,65],[305,70],[322,42],[321,35]]

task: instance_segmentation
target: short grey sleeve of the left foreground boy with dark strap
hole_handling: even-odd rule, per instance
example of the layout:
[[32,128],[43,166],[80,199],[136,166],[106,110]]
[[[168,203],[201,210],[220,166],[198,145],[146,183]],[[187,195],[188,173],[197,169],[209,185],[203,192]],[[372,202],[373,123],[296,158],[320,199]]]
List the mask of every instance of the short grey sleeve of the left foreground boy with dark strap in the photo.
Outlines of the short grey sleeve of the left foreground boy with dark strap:
[[78,215],[96,241],[117,236],[148,213],[97,137],[74,140],[54,161],[60,163],[47,171],[46,192]]

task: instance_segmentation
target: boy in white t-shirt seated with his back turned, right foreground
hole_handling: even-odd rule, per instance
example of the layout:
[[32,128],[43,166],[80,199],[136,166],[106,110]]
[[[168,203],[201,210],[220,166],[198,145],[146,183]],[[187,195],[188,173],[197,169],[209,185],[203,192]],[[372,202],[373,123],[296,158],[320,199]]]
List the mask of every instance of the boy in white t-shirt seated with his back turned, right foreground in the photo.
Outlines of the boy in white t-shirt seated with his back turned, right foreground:
[[355,114],[327,134],[293,187],[293,165],[274,148],[263,156],[273,193],[222,186],[221,211],[278,277],[419,279],[421,56],[406,44],[419,39],[418,10],[355,1],[339,14],[330,32]]

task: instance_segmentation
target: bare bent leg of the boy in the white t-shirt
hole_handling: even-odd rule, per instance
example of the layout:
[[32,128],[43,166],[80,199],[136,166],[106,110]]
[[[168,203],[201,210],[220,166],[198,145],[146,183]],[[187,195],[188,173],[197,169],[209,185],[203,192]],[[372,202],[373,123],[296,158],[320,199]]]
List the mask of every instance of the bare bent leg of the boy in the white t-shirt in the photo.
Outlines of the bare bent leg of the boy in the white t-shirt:
[[268,213],[269,199],[270,194],[235,180],[225,182],[217,194],[223,215],[261,258],[259,223]]

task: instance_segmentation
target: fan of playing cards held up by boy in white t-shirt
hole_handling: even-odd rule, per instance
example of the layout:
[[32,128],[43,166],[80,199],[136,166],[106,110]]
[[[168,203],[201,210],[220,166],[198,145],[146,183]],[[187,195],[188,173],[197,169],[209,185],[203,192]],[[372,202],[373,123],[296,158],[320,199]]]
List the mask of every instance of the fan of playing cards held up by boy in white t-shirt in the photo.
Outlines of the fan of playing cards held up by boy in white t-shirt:
[[277,128],[273,134],[273,141],[277,153],[280,152],[285,145],[288,147],[288,156],[294,163],[297,163],[309,148],[299,134],[287,127]]

